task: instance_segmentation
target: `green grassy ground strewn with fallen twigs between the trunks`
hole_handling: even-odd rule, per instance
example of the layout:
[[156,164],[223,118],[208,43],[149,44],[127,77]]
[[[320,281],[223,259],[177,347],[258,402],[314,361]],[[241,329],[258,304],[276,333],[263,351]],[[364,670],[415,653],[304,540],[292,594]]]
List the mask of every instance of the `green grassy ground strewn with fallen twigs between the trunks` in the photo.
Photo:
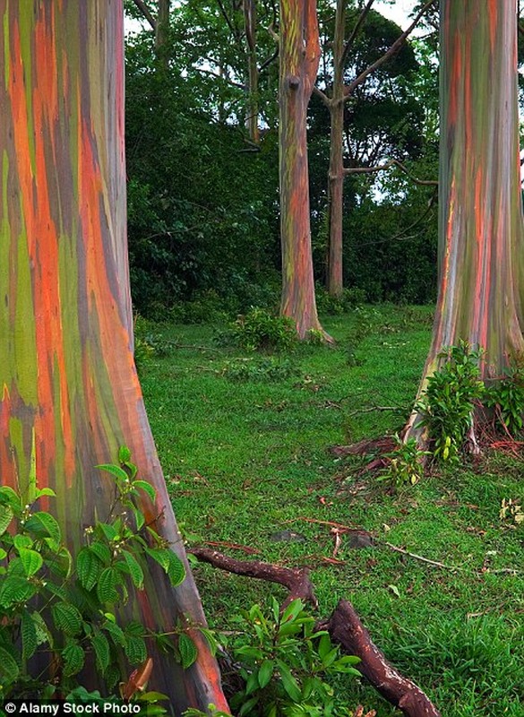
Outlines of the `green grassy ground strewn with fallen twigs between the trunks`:
[[[184,346],[142,367],[153,434],[176,515],[194,542],[251,546],[286,566],[308,565],[327,616],[353,602],[374,641],[431,695],[446,717],[524,715],[523,530],[501,520],[503,498],[524,498],[524,463],[488,454],[481,465],[434,472],[388,490],[333,444],[394,432],[408,415],[429,343],[425,308],[365,307],[326,318],[336,349],[304,347],[270,381],[249,354],[216,348],[210,326],[154,326]],[[257,374],[258,371],[258,374]],[[397,410],[370,410],[374,406]],[[350,549],[333,566],[334,521],[438,561],[430,566],[382,547]],[[294,540],[277,540],[282,531]],[[289,536],[285,536],[289,537]],[[228,552],[228,549],[225,549]],[[242,553],[229,551],[236,557]],[[457,569],[452,569],[454,566]],[[508,572],[516,568],[517,574]],[[498,571],[498,572],[497,572]],[[267,583],[198,566],[210,623],[283,593]],[[352,704],[395,712],[352,681]]]

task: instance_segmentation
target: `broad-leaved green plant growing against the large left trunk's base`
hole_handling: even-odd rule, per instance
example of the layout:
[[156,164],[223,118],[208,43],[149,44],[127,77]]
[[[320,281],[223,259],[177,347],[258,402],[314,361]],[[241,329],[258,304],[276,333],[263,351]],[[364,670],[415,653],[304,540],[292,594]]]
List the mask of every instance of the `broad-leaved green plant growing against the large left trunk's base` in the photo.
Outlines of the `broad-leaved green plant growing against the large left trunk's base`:
[[[185,579],[185,567],[166,540],[146,525],[138,499],[155,499],[155,490],[137,476],[129,450],[123,446],[117,464],[99,465],[116,484],[105,521],[85,529],[81,549],[65,545],[52,514],[39,510],[51,488],[22,496],[0,488],[0,697],[67,694],[77,685],[86,661],[95,664],[109,691],[125,678],[119,665],[147,661],[147,641],[155,639],[176,653],[187,667],[196,648],[185,626],[176,626],[175,643],[151,633],[139,622],[121,624],[119,608],[129,592],[143,590],[144,566],[150,558],[171,584]],[[39,654],[39,661],[32,658]],[[51,675],[42,677],[42,663]],[[156,701],[155,699],[151,700]]]

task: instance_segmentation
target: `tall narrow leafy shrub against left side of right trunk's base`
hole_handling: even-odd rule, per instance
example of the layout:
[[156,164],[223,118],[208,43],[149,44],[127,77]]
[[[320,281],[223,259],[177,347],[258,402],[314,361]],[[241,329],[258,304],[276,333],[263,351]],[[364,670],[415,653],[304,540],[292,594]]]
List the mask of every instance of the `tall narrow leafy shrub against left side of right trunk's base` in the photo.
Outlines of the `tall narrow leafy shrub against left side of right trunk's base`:
[[481,351],[467,341],[442,351],[442,367],[430,376],[425,394],[418,403],[433,446],[434,458],[454,462],[472,425],[475,402],[484,395],[479,378]]

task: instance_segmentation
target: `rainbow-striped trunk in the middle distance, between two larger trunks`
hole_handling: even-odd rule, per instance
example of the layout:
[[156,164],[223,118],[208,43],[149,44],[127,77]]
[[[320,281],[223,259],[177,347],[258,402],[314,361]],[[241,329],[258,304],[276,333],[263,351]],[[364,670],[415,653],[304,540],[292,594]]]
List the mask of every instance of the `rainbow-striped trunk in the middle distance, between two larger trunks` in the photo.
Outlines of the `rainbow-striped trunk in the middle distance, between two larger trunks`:
[[280,312],[304,339],[311,329],[323,333],[314,297],[307,168],[307,105],[320,59],[315,0],[281,0],[279,57]]

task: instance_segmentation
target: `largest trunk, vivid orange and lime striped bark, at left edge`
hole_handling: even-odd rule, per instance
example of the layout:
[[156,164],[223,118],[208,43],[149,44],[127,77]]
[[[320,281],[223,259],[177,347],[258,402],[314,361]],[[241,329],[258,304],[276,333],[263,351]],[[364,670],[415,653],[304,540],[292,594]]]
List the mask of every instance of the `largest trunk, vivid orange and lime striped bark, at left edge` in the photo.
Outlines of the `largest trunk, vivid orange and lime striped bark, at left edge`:
[[[157,490],[148,521],[187,570],[172,589],[150,566],[134,617],[170,630],[203,624],[133,363],[125,239],[122,0],[0,0],[0,476],[56,491],[46,506],[72,549],[105,514],[94,468],[128,445]],[[205,641],[194,668],[166,656],[151,682],[175,713],[227,705]]]

